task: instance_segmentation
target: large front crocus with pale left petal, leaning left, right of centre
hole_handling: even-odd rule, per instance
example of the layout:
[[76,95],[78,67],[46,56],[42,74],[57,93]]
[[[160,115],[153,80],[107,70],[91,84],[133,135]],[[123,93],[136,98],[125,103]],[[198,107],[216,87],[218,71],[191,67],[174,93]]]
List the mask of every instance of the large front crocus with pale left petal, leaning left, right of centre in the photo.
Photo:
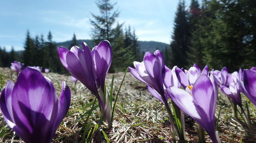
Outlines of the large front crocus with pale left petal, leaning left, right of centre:
[[215,131],[217,94],[212,76],[209,78],[204,74],[200,75],[194,82],[191,93],[177,87],[170,87],[167,92],[180,109],[205,129],[212,142],[220,142]]

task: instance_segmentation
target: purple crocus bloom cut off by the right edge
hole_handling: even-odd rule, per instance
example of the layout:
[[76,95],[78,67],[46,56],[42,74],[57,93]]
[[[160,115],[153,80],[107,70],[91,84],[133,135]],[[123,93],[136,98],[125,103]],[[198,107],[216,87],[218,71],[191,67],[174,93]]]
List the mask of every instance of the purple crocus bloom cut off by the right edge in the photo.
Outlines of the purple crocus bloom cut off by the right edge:
[[244,70],[243,81],[239,80],[241,91],[256,105],[256,71]]

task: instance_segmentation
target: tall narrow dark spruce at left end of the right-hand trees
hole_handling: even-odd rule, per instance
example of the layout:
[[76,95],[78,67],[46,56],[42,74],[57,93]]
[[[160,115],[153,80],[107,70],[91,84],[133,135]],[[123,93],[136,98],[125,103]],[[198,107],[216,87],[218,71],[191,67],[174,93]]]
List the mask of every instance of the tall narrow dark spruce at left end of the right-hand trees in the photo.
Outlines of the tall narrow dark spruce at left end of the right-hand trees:
[[174,21],[174,32],[172,35],[171,48],[171,65],[184,67],[187,65],[187,50],[189,44],[189,25],[187,21],[187,11],[185,2],[179,2],[176,17]]

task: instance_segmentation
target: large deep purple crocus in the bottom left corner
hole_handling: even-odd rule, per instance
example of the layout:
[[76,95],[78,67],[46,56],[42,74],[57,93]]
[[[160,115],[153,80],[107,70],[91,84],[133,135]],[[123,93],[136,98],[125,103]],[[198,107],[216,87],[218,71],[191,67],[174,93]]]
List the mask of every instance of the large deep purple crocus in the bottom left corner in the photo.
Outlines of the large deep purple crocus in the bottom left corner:
[[63,81],[59,100],[50,79],[27,67],[16,83],[7,83],[0,106],[7,124],[27,143],[48,143],[70,106],[70,89]]

